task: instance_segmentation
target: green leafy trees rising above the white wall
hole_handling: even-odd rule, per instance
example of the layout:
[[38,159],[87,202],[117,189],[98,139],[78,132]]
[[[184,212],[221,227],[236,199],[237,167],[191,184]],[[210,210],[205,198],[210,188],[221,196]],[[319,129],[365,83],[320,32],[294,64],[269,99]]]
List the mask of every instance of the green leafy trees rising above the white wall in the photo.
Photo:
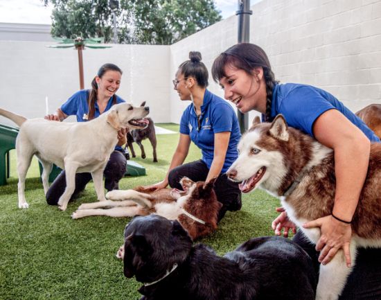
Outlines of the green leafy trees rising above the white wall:
[[75,38],[113,35],[116,16],[118,42],[173,44],[222,19],[213,0],[121,0],[110,8],[108,0],[43,0],[54,6],[52,35]]

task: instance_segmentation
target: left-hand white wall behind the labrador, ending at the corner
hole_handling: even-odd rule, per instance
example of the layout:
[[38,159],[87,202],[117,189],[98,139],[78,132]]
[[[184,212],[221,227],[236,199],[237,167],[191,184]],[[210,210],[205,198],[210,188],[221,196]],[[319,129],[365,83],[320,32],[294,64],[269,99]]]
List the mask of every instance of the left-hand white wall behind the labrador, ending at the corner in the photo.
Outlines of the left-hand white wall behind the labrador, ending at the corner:
[[[45,98],[54,112],[79,89],[78,52],[47,48],[48,42],[0,41],[0,107],[28,118],[44,116]],[[134,105],[144,100],[152,118],[168,122],[170,78],[168,46],[112,45],[83,51],[85,88],[100,65],[117,64],[123,70],[118,95]],[[69,119],[73,121],[74,118]],[[11,124],[1,117],[1,123]]]

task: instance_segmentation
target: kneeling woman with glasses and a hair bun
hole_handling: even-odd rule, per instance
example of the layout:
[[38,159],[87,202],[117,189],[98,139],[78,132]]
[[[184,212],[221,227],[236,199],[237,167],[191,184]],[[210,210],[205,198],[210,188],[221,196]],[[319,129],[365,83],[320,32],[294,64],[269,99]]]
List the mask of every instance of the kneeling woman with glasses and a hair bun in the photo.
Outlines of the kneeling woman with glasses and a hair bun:
[[[179,143],[166,178],[153,186],[161,189],[169,184],[181,189],[179,181],[184,176],[194,182],[209,182],[217,177],[215,193],[223,205],[220,220],[226,211],[238,211],[242,206],[238,184],[224,174],[238,157],[240,128],[231,105],[206,89],[209,73],[201,62],[201,54],[190,52],[189,58],[180,64],[173,85],[181,100],[192,103],[181,116]],[[183,164],[190,141],[201,149],[202,159]]]

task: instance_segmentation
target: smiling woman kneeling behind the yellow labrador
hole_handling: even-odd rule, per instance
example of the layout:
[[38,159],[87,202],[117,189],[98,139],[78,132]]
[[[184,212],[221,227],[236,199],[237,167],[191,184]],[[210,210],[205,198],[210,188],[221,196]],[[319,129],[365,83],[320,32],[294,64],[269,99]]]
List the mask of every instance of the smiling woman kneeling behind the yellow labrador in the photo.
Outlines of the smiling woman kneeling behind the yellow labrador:
[[[121,85],[121,76],[122,71],[115,64],[103,64],[97,76],[91,82],[90,90],[82,89],[77,91],[76,94],[73,94],[67,102],[57,109],[55,114],[47,115],[45,118],[52,121],[63,121],[68,116],[74,115],[77,117],[78,122],[86,122],[98,117],[103,112],[107,112],[112,105],[125,102],[125,100],[115,94]],[[107,191],[118,189],[118,182],[125,174],[127,162],[121,145],[126,142],[126,132],[123,128],[118,132],[118,144],[110,155],[109,162],[104,171],[105,188]],[[78,147],[80,146],[78,145]],[[83,191],[90,180],[90,173],[77,173],[76,190],[73,196]],[[46,202],[51,205],[57,205],[65,188],[66,177],[63,170],[48,189]]]

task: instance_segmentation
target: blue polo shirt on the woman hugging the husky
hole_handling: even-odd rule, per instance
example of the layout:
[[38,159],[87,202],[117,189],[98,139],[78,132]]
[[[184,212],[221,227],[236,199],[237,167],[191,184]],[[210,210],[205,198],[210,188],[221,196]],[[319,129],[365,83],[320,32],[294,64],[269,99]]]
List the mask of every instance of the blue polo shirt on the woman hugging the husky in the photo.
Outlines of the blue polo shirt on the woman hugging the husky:
[[310,136],[314,136],[312,126],[314,121],[328,109],[337,109],[349,121],[360,128],[370,141],[380,142],[378,136],[353,112],[346,108],[333,95],[312,87],[286,83],[276,85],[272,95],[272,117],[283,114],[287,124],[297,128]]

